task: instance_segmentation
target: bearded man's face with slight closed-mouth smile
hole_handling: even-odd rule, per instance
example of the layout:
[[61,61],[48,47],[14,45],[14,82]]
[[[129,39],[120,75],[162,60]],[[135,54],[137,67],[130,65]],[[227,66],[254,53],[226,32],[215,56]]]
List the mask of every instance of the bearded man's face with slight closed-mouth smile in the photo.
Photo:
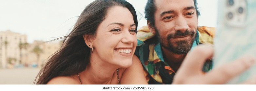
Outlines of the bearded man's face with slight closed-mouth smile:
[[155,0],[153,30],[163,48],[187,54],[195,40],[197,15],[193,0]]

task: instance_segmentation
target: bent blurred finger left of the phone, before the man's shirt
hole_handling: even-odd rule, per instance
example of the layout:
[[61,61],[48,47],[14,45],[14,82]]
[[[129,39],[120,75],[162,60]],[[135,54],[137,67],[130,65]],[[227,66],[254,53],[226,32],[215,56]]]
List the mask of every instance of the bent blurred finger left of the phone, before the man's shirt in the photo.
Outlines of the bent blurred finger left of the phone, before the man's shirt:
[[[203,64],[213,56],[211,45],[199,45],[188,53],[179,70],[187,74],[202,73]],[[179,72],[179,71],[178,71]]]

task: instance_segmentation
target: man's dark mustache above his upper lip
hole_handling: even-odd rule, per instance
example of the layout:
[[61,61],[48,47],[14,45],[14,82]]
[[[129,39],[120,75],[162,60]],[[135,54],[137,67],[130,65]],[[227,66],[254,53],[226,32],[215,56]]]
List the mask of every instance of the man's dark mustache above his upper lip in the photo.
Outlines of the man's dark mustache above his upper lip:
[[189,31],[189,30],[186,30],[185,32],[177,31],[174,34],[173,33],[168,34],[167,40],[169,40],[170,38],[182,37],[182,36],[187,36],[187,35],[194,36],[194,34],[195,34],[194,31]]

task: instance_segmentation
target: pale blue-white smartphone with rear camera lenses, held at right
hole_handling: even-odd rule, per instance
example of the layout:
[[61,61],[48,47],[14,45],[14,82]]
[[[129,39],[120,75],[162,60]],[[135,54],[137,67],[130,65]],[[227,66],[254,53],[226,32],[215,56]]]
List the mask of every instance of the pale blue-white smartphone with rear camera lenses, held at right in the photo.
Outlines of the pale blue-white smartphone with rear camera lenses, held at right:
[[[214,68],[243,55],[256,58],[256,0],[218,0],[214,38]],[[240,84],[256,77],[256,64],[227,84]]]

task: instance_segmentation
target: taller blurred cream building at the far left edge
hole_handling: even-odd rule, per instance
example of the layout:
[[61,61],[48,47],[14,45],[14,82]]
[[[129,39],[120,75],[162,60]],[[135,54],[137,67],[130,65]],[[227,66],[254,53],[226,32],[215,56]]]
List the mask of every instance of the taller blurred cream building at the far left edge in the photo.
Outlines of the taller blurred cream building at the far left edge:
[[19,63],[23,50],[19,44],[27,43],[27,35],[11,32],[0,32],[0,67],[6,68],[8,64]]

